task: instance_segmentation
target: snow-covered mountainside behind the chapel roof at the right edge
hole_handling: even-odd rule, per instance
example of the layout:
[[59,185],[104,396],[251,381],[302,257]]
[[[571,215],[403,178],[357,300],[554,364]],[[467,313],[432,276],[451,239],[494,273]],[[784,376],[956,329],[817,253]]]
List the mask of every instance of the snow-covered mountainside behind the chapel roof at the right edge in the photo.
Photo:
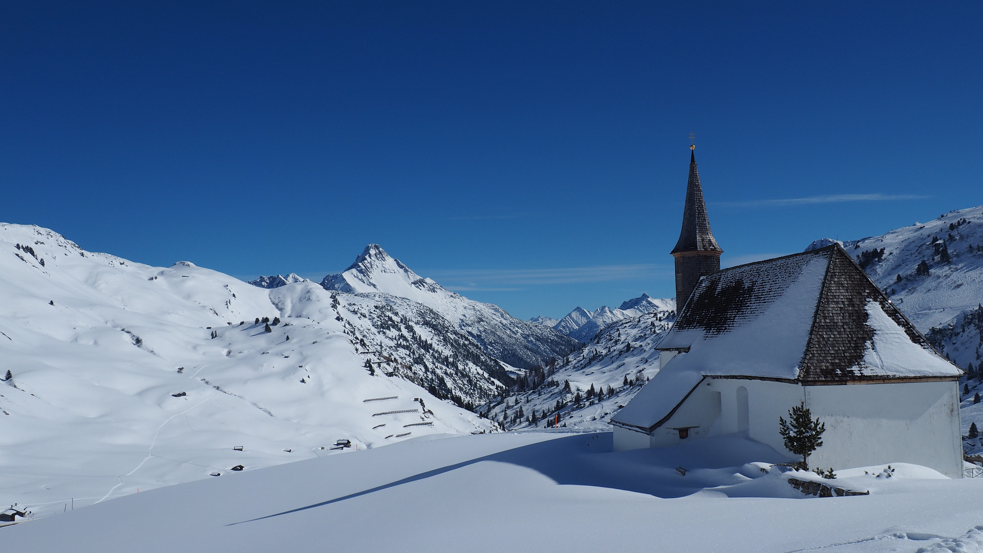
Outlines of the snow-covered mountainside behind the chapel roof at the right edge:
[[983,301],[983,207],[840,243],[933,345],[963,368],[979,364],[972,313]]

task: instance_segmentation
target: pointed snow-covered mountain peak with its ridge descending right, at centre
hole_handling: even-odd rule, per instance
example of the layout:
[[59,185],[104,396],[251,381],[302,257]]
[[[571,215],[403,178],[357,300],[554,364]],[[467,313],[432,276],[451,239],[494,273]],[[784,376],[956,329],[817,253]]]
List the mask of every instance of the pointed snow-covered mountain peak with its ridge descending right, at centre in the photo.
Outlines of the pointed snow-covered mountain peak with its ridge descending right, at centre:
[[545,364],[579,345],[549,327],[520,321],[497,305],[470,300],[417,275],[378,244],[366,246],[348,269],[324,276],[320,284],[327,290],[384,294],[423,304],[475,338],[489,355],[514,367]]

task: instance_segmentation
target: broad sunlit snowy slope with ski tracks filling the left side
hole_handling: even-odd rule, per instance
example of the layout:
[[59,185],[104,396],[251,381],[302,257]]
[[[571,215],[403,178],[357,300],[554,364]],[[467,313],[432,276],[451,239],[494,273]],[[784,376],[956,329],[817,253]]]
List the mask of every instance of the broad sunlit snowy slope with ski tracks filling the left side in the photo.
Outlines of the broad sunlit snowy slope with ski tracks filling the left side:
[[[493,395],[487,356],[444,365],[435,353],[482,352],[477,342],[395,330],[392,339],[426,339],[432,351],[400,353],[406,367],[374,376],[349,315],[359,302],[343,299],[339,321],[310,281],[265,289],[0,223],[0,375],[13,376],[0,383],[0,505],[43,513],[73,497],[78,507],[239,464],[318,457],[341,438],[375,448],[495,428],[427,392],[453,378],[458,396]],[[255,322],[276,317],[269,332]]]

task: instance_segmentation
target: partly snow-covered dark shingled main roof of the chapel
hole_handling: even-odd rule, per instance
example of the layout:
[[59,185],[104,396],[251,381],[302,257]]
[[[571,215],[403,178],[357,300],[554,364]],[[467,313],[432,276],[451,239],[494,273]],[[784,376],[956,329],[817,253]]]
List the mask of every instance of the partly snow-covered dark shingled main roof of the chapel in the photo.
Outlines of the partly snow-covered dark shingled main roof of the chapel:
[[703,277],[659,348],[682,353],[612,423],[654,428],[706,377],[810,386],[962,374],[838,244]]

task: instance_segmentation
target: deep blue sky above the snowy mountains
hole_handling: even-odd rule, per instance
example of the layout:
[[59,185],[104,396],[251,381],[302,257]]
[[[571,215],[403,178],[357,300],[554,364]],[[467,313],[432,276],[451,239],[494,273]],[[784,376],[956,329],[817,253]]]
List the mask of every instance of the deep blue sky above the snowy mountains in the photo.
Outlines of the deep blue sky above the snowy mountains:
[[983,204],[979,3],[0,4],[0,220],[240,277],[381,244],[513,315]]

